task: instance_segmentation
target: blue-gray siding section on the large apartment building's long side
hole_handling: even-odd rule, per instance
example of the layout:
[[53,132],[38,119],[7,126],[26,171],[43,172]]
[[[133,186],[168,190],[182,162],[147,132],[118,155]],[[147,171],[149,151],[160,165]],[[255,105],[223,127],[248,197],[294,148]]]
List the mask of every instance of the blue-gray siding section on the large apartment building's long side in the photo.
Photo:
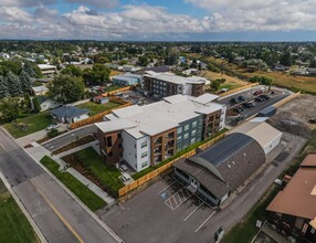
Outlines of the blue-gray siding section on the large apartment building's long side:
[[203,116],[181,123],[177,129],[177,151],[202,139]]

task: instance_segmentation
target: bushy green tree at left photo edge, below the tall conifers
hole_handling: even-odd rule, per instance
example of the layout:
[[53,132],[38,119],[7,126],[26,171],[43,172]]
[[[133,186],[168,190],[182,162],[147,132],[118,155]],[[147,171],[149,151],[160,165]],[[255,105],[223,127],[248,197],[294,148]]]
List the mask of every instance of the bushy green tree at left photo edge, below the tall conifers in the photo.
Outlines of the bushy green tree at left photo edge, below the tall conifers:
[[19,117],[19,98],[2,98],[0,101],[0,118],[4,123],[10,123]]

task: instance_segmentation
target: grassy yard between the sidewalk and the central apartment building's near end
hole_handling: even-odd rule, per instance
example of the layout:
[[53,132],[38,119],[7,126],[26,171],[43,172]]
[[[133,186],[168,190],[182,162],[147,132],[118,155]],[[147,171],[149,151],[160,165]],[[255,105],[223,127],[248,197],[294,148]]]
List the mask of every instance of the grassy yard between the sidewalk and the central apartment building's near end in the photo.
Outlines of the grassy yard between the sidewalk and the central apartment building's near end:
[[118,178],[120,176],[118,169],[115,166],[107,166],[92,147],[62,159],[114,196],[117,196],[118,189],[124,187]]

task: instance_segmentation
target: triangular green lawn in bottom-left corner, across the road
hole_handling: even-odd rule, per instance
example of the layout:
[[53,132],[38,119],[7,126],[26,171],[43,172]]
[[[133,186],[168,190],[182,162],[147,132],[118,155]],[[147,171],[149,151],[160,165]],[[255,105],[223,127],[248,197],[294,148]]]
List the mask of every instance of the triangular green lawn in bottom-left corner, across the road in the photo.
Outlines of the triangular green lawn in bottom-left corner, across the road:
[[31,224],[0,180],[0,242],[40,242]]

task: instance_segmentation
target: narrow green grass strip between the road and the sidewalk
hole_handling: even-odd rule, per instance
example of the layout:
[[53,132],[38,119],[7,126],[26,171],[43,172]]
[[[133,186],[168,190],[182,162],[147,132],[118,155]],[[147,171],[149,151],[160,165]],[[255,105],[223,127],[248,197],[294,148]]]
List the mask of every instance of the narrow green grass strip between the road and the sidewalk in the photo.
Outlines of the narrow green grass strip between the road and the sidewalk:
[[63,182],[78,199],[92,211],[96,211],[102,207],[106,205],[98,196],[91,191],[85,184],[80,182],[69,172],[61,172],[59,170],[59,165],[45,156],[41,159],[43,163],[61,182]]

